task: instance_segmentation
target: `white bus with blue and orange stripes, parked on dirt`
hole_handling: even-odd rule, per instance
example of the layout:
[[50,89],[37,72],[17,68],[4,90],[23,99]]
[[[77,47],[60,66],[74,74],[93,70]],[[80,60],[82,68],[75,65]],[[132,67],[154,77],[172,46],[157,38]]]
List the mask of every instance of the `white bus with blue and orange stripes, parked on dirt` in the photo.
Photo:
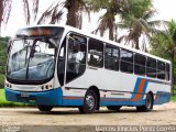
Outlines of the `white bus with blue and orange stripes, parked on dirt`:
[[8,101],[41,111],[77,107],[91,113],[106,106],[151,111],[169,101],[169,61],[70,26],[21,29],[9,44]]

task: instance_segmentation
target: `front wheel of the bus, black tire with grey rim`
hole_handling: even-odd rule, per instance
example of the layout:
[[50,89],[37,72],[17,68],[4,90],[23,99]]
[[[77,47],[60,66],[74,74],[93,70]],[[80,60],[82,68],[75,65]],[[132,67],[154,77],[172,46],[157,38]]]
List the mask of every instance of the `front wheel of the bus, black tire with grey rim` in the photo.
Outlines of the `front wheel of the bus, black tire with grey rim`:
[[80,106],[79,112],[80,113],[92,113],[96,111],[97,108],[97,95],[94,90],[88,90],[84,98],[84,105]]

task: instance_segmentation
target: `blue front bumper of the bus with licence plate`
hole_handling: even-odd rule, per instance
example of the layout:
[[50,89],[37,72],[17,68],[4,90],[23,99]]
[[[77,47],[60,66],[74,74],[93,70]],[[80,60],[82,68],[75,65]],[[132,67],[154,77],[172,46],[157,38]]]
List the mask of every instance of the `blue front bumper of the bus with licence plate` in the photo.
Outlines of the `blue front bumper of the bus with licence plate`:
[[47,91],[26,92],[6,88],[6,99],[13,102],[34,103],[43,106],[62,106],[63,90],[56,88]]

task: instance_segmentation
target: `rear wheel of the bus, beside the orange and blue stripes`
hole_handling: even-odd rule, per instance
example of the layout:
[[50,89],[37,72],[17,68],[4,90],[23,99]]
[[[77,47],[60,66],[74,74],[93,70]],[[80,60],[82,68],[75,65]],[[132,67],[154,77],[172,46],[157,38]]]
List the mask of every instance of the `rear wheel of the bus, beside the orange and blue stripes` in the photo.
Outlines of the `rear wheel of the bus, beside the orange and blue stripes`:
[[136,107],[136,110],[140,112],[148,112],[153,110],[153,96],[152,94],[146,95],[145,105]]

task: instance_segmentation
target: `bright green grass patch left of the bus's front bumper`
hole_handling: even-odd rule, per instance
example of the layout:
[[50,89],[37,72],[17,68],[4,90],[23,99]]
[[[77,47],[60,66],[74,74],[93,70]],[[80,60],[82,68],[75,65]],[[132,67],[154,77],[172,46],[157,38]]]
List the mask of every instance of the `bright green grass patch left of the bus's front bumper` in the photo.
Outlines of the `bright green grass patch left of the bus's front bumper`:
[[32,105],[7,101],[4,97],[4,89],[0,89],[0,107],[32,107]]

